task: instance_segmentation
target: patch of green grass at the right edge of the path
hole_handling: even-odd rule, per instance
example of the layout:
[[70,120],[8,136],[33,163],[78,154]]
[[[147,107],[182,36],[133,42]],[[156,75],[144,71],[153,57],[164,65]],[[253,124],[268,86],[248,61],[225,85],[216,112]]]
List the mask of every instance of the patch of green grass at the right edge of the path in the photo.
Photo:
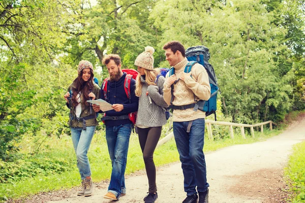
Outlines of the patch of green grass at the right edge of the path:
[[289,178],[291,202],[305,202],[305,142],[293,146],[285,175]]

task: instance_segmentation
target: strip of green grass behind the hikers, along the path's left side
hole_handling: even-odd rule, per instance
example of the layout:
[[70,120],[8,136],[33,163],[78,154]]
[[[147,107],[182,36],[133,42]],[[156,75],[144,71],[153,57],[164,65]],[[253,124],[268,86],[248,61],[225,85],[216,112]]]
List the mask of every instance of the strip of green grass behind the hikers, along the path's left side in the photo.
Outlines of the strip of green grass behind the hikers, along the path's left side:
[[[236,144],[249,144],[258,141],[264,141],[267,138],[276,136],[282,130],[264,130],[264,134],[255,132],[255,138],[252,138],[249,134],[246,134],[247,139],[243,139],[239,134],[235,133],[234,139],[220,139],[217,141],[208,140],[207,136],[204,144],[204,152],[215,151],[217,149],[236,145]],[[31,142],[29,142],[31,143]],[[17,199],[24,198],[31,194],[37,194],[39,192],[47,192],[59,189],[69,189],[74,186],[80,185],[80,177],[76,167],[75,154],[72,147],[72,141],[69,136],[64,136],[60,139],[50,138],[45,141],[41,147],[42,151],[47,148],[48,156],[65,157],[67,160],[72,161],[71,171],[64,172],[62,174],[53,174],[49,176],[38,175],[33,178],[28,178],[22,181],[16,181],[12,184],[0,184],[0,198],[5,199]],[[25,152],[25,151],[23,151]],[[90,166],[92,168],[92,177],[94,182],[99,182],[110,178],[111,174],[111,161],[108,155],[108,149],[103,131],[97,131],[90,146],[88,157]],[[167,163],[172,163],[179,160],[179,155],[176,150],[174,140],[170,140],[168,143],[156,149],[154,154],[154,160],[157,166],[161,166]],[[75,164],[73,163],[75,162]],[[140,149],[138,137],[136,134],[132,134],[130,138],[130,146],[128,153],[128,163],[126,168],[126,174],[134,173],[138,170],[143,170],[144,162],[142,158],[142,152]]]

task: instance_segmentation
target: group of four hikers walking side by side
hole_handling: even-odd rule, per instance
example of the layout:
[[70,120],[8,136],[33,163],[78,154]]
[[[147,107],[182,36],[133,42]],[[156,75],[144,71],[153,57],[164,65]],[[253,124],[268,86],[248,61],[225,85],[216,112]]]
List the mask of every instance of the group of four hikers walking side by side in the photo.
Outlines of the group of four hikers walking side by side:
[[[203,154],[205,112],[194,110],[198,100],[208,100],[210,97],[208,74],[199,63],[194,64],[189,73],[184,72],[189,61],[180,42],[168,42],[163,49],[166,60],[174,70],[174,73],[168,72],[166,77],[160,76],[158,70],[154,69],[153,47],[146,47],[137,56],[134,64],[138,76],[135,79],[122,72],[119,55],[105,55],[103,64],[107,66],[109,78],[104,81],[102,89],[94,83],[92,63],[86,60],[79,62],[78,77],[64,95],[70,108],[69,124],[82,180],[82,190],[77,192],[78,195],[89,196],[93,193],[87,151],[99,124],[96,113],[104,113],[100,106],[86,101],[103,99],[113,108],[102,117],[112,162],[111,179],[104,198],[118,200],[126,195],[124,174],[129,139],[135,123],[149,186],[143,201],[156,201],[158,193],[153,155],[162,126],[167,123],[166,109],[170,107],[173,109],[173,133],[187,193],[182,202],[208,202],[209,185]],[[134,112],[137,112],[136,120],[133,120]]]

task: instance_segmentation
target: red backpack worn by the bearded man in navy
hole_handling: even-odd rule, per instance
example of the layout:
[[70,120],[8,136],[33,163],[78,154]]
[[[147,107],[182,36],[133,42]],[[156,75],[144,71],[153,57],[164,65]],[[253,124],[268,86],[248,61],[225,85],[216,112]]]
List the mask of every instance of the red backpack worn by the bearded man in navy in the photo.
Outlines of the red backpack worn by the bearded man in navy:
[[[125,93],[127,95],[127,98],[129,99],[129,103],[131,104],[131,94],[130,94],[130,84],[131,84],[131,79],[134,78],[136,79],[138,76],[138,72],[134,69],[123,69],[122,72],[127,73],[126,77],[125,77],[125,81],[124,81],[124,90]],[[103,85],[102,85],[102,89],[104,92],[104,96],[105,96],[105,100],[108,102],[109,99],[107,98],[107,86],[108,86],[108,79],[109,78],[105,78]],[[106,116],[106,113],[104,114],[104,117]],[[127,117],[125,118],[125,116],[120,116],[121,119],[127,119]],[[128,118],[129,120],[133,123],[136,124],[136,119],[137,119],[137,112],[132,112],[128,114]],[[103,121],[103,123],[105,123],[105,120],[103,120],[103,118],[101,118],[101,120]],[[119,119],[118,119],[119,120]]]

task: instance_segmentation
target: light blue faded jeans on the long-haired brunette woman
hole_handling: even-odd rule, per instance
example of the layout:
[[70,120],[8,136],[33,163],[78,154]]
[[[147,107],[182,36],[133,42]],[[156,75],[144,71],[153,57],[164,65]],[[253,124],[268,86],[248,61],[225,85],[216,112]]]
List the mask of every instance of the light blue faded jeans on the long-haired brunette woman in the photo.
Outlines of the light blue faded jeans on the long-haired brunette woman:
[[82,127],[71,127],[71,137],[74,151],[77,157],[77,167],[81,180],[91,176],[90,164],[87,157],[96,126],[88,126],[86,130]]

